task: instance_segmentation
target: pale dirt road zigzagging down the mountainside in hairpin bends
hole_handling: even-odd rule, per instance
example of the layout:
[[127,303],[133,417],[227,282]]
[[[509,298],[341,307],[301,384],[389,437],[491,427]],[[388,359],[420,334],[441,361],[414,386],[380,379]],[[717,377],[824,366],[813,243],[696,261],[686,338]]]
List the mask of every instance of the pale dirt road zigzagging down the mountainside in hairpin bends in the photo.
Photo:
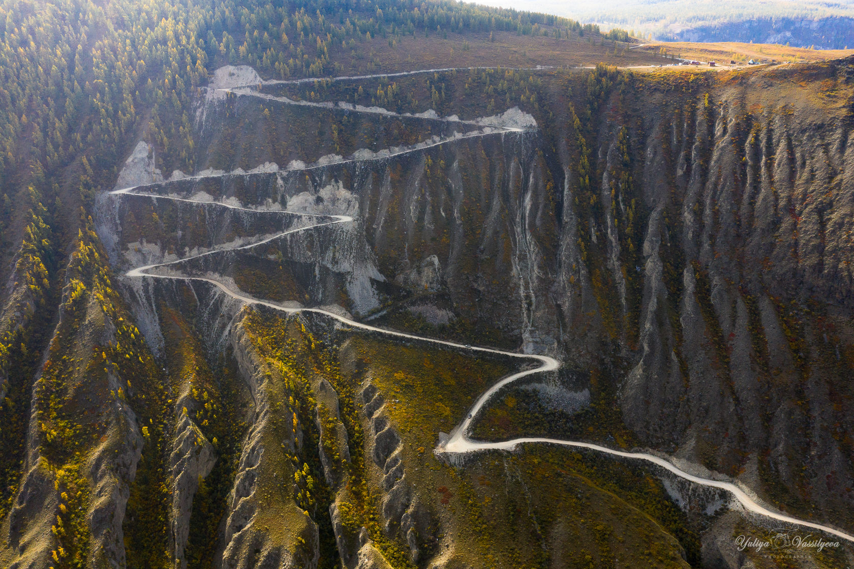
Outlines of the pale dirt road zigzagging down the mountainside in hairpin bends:
[[[418,73],[418,72],[407,72],[407,73]],[[354,78],[336,78],[336,79],[361,79],[361,78],[360,77],[354,77]],[[222,89],[219,91],[231,91],[231,92],[237,93],[238,95],[243,95],[243,96],[263,97],[265,99],[275,100],[275,101],[278,101],[281,103],[287,103],[287,104],[301,104],[301,105],[309,105],[309,106],[329,107],[328,103],[323,104],[323,103],[295,102],[295,101],[291,101],[290,99],[287,99],[286,97],[272,97],[269,95],[262,95],[256,91],[251,91],[251,90],[246,89],[246,88],[240,88],[239,90]],[[342,107],[342,109],[343,108],[344,107]],[[357,109],[355,107],[353,107],[352,109],[348,108],[348,110],[356,111],[356,112],[373,112],[373,113],[379,112],[377,110]],[[394,114],[394,113],[388,113],[387,112],[385,114]],[[434,119],[434,120],[447,120],[447,119]],[[471,124],[471,125],[486,126],[483,123],[478,123],[477,121],[460,121],[460,120],[457,120],[455,122],[465,122],[466,124]],[[457,139],[457,138],[485,137],[485,136],[490,136],[493,134],[503,134],[506,132],[522,132],[523,130],[524,129],[515,128],[512,126],[495,126],[495,127],[492,127],[492,130],[489,130],[487,132],[483,132],[483,131],[469,132],[469,133],[460,134],[456,138],[454,138],[454,137],[441,138],[441,139],[439,139],[438,142],[424,145],[418,149],[401,150],[401,151],[396,152],[396,153],[391,154],[391,155],[399,155],[399,154],[404,154],[407,152],[422,150],[423,148],[427,148],[430,146],[435,146],[438,144],[445,144],[445,143],[447,143],[451,140]],[[388,157],[388,155],[384,155],[383,157]],[[360,161],[360,160],[353,158],[353,159],[348,159],[347,161]],[[317,167],[317,166],[308,166],[308,167],[305,167],[304,169],[310,169],[312,167]],[[202,177],[204,177],[204,176],[195,177],[195,178],[202,178]],[[214,175],[214,176],[210,176],[210,177],[221,177],[221,176],[215,176]],[[184,178],[184,180],[193,179],[193,178],[194,177]],[[164,184],[168,184],[168,183],[169,182],[165,182]],[[740,485],[735,484],[734,482],[731,482],[728,479],[723,479],[724,478],[723,476],[721,476],[722,479],[712,479],[712,478],[699,477],[699,476],[696,476],[694,474],[691,474],[690,472],[686,472],[685,470],[682,470],[680,467],[676,466],[673,461],[671,461],[669,459],[665,459],[665,458],[658,456],[658,455],[652,455],[652,454],[647,454],[647,453],[643,453],[643,452],[624,452],[624,451],[617,450],[617,449],[609,449],[607,447],[600,446],[600,445],[594,444],[594,443],[584,443],[581,441],[570,441],[570,440],[561,440],[561,439],[545,438],[545,437],[520,437],[520,438],[514,438],[511,440],[504,441],[504,442],[496,442],[496,443],[485,443],[485,442],[479,442],[477,440],[472,440],[469,437],[469,434],[471,431],[471,425],[472,425],[473,421],[477,418],[477,415],[481,412],[484,405],[487,402],[489,402],[490,399],[496,393],[498,393],[500,390],[505,388],[507,385],[518,381],[519,379],[526,378],[526,377],[532,376],[534,374],[539,374],[541,372],[552,372],[554,370],[557,370],[560,367],[560,362],[555,360],[552,357],[547,356],[547,355],[520,354],[517,352],[509,352],[509,351],[505,351],[505,350],[501,350],[501,349],[492,349],[492,348],[486,348],[486,347],[480,347],[480,346],[470,346],[470,345],[462,344],[462,343],[449,342],[446,340],[439,340],[439,339],[435,339],[435,338],[431,338],[431,337],[418,336],[415,334],[409,334],[409,333],[405,333],[405,332],[401,332],[401,331],[391,331],[391,330],[383,329],[383,328],[380,328],[377,326],[370,326],[370,325],[367,325],[367,324],[364,324],[364,323],[361,323],[361,322],[358,322],[355,320],[350,320],[349,318],[347,318],[346,316],[343,316],[342,314],[336,314],[335,312],[331,312],[331,311],[325,310],[323,308],[287,307],[287,306],[283,306],[282,304],[278,304],[275,302],[268,302],[268,301],[260,300],[258,298],[254,298],[253,296],[243,294],[239,290],[232,290],[231,288],[229,288],[229,286],[225,285],[224,283],[220,282],[219,280],[208,278],[208,277],[199,277],[199,276],[192,276],[191,277],[191,276],[185,276],[183,274],[155,274],[155,273],[151,273],[151,271],[153,271],[155,269],[170,268],[171,266],[174,266],[178,262],[190,261],[190,260],[196,259],[198,257],[202,257],[204,255],[215,255],[215,254],[222,253],[225,251],[234,251],[234,250],[240,250],[240,249],[251,249],[251,248],[256,247],[258,245],[261,245],[263,243],[269,243],[275,239],[282,238],[286,235],[289,235],[290,233],[301,232],[303,230],[313,229],[313,228],[317,228],[317,227],[321,227],[321,226],[332,226],[332,225],[341,224],[341,223],[350,223],[350,222],[354,221],[354,218],[351,216],[348,216],[348,215],[302,214],[301,212],[295,212],[295,211],[276,211],[276,210],[271,210],[271,209],[243,208],[243,207],[234,206],[234,205],[224,203],[224,202],[198,201],[198,200],[184,199],[184,198],[179,198],[179,197],[169,197],[169,196],[164,196],[161,194],[158,194],[155,196],[155,195],[144,193],[142,191],[138,191],[139,188],[141,188],[141,187],[142,186],[134,186],[131,188],[116,190],[116,191],[111,192],[111,195],[113,195],[116,199],[120,199],[124,195],[150,196],[150,197],[156,198],[156,199],[170,199],[170,200],[175,200],[178,202],[189,202],[189,203],[194,203],[194,204],[199,204],[199,205],[215,206],[215,207],[222,207],[222,208],[232,208],[232,209],[237,209],[237,210],[241,210],[241,211],[248,212],[248,213],[257,213],[257,214],[261,214],[261,213],[263,213],[263,214],[289,214],[289,215],[297,214],[297,215],[304,215],[307,218],[310,218],[311,220],[313,220],[313,223],[311,225],[308,225],[308,226],[302,226],[302,227],[299,227],[296,229],[290,229],[290,230],[285,231],[285,232],[280,232],[278,234],[273,235],[272,237],[266,237],[266,238],[263,238],[259,241],[254,242],[254,243],[245,244],[245,245],[239,246],[237,248],[233,248],[233,249],[213,249],[213,250],[209,250],[205,253],[202,253],[201,255],[194,255],[194,256],[186,257],[186,258],[180,259],[178,261],[170,261],[170,262],[161,263],[161,264],[153,264],[153,265],[147,265],[144,267],[136,267],[136,268],[133,268],[126,273],[126,276],[129,278],[177,279],[177,280],[185,280],[185,281],[190,281],[190,280],[204,281],[210,285],[213,285],[213,286],[219,288],[219,290],[222,290],[223,292],[225,292],[226,295],[231,296],[232,298],[237,299],[241,302],[245,302],[246,304],[254,304],[254,305],[265,306],[267,308],[272,308],[274,310],[278,310],[278,311],[284,312],[286,314],[295,314],[295,313],[301,313],[301,312],[324,314],[325,316],[327,316],[331,319],[337,320],[338,322],[342,323],[343,325],[348,326],[348,327],[352,327],[354,329],[365,330],[365,331],[374,331],[374,332],[379,332],[379,333],[389,335],[392,337],[400,337],[400,338],[405,338],[407,340],[416,340],[416,341],[424,342],[424,343],[432,343],[435,345],[447,346],[447,347],[451,347],[454,349],[467,349],[467,350],[471,350],[473,352],[484,352],[484,353],[497,354],[497,355],[506,355],[506,356],[510,356],[510,357],[514,357],[514,358],[519,358],[519,359],[524,359],[524,360],[529,360],[529,361],[536,361],[539,363],[538,367],[535,367],[533,369],[524,370],[524,371],[517,372],[517,373],[513,373],[512,375],[507,376],[506,378],[502,378],[499,382],[497,382],[492,387],[490,387],[488,390],[483,392],[483,394],[477,398],[477,401],[472,405],[471,409],[465,415],[463,420],[453,430],[453,432],[451,433],[451,435],[447,439],[447,441],[442,441],[438,445],[438,447],[435,449],[435,452],[437,455],[447,455],[449,458],[453,458],[453,456],[473,454],[473,453],[477,453],[478,451],[483,451],[483,450],[491,450],[491,449],[512,450],[512,449],[515,449],[519,444],[522,444],[522,443],[549,443],[549,444],[564,445],[567,447],[591,449],[591,450],[594,450],[594,451],[597,451],[600,453],[604,453],[607,455],[612,455],[612,456],[616,456],[616,457],[620,457],[620,458],[644,460],[646,462],[652,463],[655,466],[662,467],[665,470],[676,475],[677,477],[680,477],[680,478],[683,478],[687,481],[693,482],[694,484],[699,484],[701,486],[719,489],[719,490],[726,490],[732,496],[734,496],[734,498],[738,502],[740,502],[741,506],[744,507],[744,509],[748,512],[755,513],[755,514],[758,514],[760,516],[763,516],[763,517],[766,517],[769,519],[774,519],[776,521],[781,521],[781,522],[784,522],[787,524],[800,525],[800,526],[803,526],[806,528],[824,531],[824,532],[827,532],[828,534],[834,535],[836,537],[840,537],[842,539],[845,539],[845,540],[848,540],[848,541],[854,543],[854,536],[851,536],[850,534],[847,534],[843,531],[836,530],[836,529],[829,527],[827,525],[821,525],[821,524],[816,524],[816,523],[812,523],[809,521],[805,521],[802,519],[796,519],[796,518],[793,518],[791,516],[787,516],[785,514],[772,511],[771,509],[769,509],[769,507],[764,506],[763,503],[757,497],[755,497],[755,495],[753,495],[751,490],[746,489],[746,488],[742,488]]]

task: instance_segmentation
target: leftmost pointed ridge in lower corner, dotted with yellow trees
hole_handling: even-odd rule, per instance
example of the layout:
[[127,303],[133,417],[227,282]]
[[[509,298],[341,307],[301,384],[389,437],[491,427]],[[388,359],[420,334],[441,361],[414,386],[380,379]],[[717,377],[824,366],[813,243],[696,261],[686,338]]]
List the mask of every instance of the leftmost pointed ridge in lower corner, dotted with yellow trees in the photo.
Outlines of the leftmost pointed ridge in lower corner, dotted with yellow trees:
[[128,399],[153,362],[94,238],[87,229],[71,255],[33,385],[20,486],[2,525],[4,565],[125,563],[122,519],[143,445]]

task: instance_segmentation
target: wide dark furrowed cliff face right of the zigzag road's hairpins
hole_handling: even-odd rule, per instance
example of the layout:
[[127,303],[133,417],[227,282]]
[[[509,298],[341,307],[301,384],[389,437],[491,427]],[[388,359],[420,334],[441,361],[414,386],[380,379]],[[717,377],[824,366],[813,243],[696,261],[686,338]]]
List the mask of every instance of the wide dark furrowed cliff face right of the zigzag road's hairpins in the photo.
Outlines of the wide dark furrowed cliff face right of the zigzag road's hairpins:
[[541,134],[315,185],[360,199],[377,322],[563,353],[640,441],[848,519],[850,74],[553,73]]

